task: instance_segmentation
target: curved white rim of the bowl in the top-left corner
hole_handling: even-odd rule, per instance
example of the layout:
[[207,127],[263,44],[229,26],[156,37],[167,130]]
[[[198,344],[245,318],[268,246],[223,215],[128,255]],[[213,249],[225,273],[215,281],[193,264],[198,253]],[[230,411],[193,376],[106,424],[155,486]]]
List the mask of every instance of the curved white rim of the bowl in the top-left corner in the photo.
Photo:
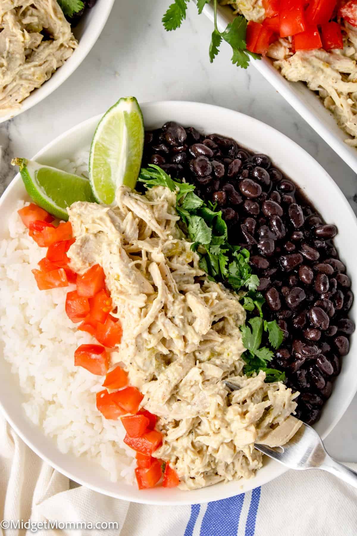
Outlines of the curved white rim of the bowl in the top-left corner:
[[[102,33],[102,30],[105,26],[105,23],[107,23],[107,20],[109,18],[110,12],[112,10],[112,7],[114,5],[115,0],[105,0],[104,2],[101,2],[101,5],[98,5],[98,8],[100,7],[101,10],[98,10],[98,14],[100,13],[100,17],[98,16],[98,22],[95,25],[95,27],[92,29],[92,25],[90,25],[90,28],[88,27],[86,29],[86,32],[83,35],[86,35],[86,46],[81,47],[81,41],[78,42],[78,47],[74,50],[74,53],[72,56],[70,56],[62,66],[60,66],[58,69],[56,69],[56,80],[53,77],[55,73],[46,80],[42,86],[35,88],[26,99],[24,99],[22,102],[20,102],[20,107],[16,110],[13,110],[9,112],[8,114],[0,115],[0,124],[4,123],[5,121],[9,121],[13,117],[16,117],[20,114],[22,114],[24,111],[29,110],[33,106],[36,106],[39,102],[41,102],[43,99],[45,99],[48,95],[53,93],[57,88],[62,85],[67,78],[69,78],[73,72],[79,67],[79,65],[82,63],[83,59],[86,58],[86,56],[89,54],[90,50],[92,50],[94,44],[96,43],[98,37]],[[92,10],[95,9],[95,5]],[[88,11],[88,9],[87,9]],[[86,13],[83,14],[84,16]],[[88,32],[88,29],[90,29],[90,32]],[[88,33],[87,33],[88,32]],[[71,63],[68,64],[67,62],[71,60]],[[51,81],[52,80],[52,81]]]

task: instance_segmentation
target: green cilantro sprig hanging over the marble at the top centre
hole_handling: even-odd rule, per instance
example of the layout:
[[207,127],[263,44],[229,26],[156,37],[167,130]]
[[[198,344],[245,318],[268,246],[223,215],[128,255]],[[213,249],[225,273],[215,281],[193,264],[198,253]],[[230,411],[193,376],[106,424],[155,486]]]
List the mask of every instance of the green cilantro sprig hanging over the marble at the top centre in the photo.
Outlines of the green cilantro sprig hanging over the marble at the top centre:
[[[167,31],[176,30],[181,26],[186,19],[187,4],[189,0],[174,0],[169,6],[162,18],[162,23]],[[203,8],[208,4],[210,0],[198,0],[197,8],[199,14],[202,13]],[[253,54],[246,49],[246,33],[247,33],[247,20],[245,17],[238,15],[232,23],[229,23],[223,32],[219,32],[217,26],[217,0],[213,0],[214,9],[214,31],[211,35],[211,42],[209,46],[209,60],[212,63],[214,58],[219,52],[219,47],[222,41],[230,44],[232,48],[231,61],[233,65],[238,65],[243,69],[247,69],[249,64],[249,56],[254,58],[260,58],[259,55]]]

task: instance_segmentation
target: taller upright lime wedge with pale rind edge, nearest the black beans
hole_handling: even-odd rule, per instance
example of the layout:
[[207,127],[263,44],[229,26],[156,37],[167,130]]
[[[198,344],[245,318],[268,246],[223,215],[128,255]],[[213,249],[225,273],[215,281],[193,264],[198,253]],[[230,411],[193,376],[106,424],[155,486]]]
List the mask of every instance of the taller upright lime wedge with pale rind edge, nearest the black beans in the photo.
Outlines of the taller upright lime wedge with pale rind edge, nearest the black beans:
[[89,154],[89,180],[98,203],[115,204],[118,186],[135,188],[144,145],[142,113],[135,97],[119,99],[98,123]]

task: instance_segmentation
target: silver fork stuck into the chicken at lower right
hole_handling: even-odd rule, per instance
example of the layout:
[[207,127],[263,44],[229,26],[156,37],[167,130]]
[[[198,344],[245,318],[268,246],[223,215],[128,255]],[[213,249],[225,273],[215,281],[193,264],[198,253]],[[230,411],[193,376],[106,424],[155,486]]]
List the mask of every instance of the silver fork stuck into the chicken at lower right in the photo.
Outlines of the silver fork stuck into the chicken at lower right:
[[357,473],[331,458],[321,437],[302,423],[297,433],[283,446],[271,447],[255,443],[255,448],[291,469],[323,469],[357,488]]

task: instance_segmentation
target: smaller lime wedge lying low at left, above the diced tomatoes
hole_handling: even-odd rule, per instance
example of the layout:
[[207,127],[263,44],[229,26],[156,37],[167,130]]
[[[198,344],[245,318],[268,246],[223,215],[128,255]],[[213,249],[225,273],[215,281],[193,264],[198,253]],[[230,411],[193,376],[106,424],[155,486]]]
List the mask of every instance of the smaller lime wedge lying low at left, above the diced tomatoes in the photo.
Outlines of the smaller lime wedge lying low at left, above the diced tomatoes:
[[20,167],[22,181],[29,196],[50,214],[68,220],[67,206],[75,201],[95,203],[87,178],[43,166],[26,158],[14,158],[13,166]]

